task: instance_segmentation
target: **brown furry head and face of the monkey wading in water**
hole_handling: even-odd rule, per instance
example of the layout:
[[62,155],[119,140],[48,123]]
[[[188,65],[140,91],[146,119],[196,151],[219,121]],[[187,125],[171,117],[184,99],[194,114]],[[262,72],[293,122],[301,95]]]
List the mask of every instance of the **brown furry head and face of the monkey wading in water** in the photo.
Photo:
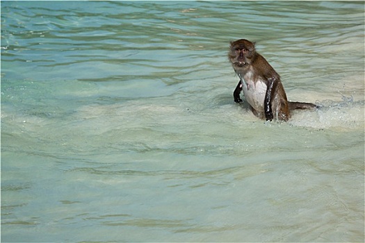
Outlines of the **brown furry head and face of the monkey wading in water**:
[[241,39],[231,42],[228,58],[235,70],[245,69],[251,64],[255,53],[254,43]]

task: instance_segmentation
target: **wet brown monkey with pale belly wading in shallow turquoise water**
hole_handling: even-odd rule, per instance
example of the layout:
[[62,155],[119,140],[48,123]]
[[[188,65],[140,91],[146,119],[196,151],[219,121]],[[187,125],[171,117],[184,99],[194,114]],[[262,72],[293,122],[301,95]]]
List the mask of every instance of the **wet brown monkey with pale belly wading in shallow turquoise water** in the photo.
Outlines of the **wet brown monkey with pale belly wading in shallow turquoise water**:
[[252,112],[260,119],[288,121],[291,110],[318,108],[314,103],[288,101],[279,74],[257,53],[254,42],[245,39],[230,42],[228,58],[240,78],[233,93],[234,101],[243,101],[240,98],[243,90]]

